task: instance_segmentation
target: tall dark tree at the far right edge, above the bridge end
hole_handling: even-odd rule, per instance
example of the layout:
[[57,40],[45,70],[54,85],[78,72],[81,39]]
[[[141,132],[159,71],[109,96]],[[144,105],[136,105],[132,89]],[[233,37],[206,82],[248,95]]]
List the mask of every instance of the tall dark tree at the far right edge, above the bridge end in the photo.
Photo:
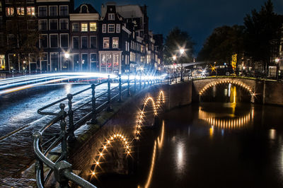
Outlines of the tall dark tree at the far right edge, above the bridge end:
[[263,69],[266,70],[272,57],[279,52],[282,16],[274,12],[272,1],[267,0],[260,11],[253,10],[244,18],[244,25],[246,54],[253,61],[262,62]]

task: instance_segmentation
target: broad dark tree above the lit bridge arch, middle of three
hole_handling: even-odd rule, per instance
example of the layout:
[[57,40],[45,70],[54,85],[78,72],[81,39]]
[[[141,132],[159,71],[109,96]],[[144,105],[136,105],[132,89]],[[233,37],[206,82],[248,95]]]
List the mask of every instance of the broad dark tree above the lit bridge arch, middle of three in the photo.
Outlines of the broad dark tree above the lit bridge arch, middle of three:
[[198,61],[231,62],[233,54],[243,54],[243,26],[233,25],[215,28],[200,50]]

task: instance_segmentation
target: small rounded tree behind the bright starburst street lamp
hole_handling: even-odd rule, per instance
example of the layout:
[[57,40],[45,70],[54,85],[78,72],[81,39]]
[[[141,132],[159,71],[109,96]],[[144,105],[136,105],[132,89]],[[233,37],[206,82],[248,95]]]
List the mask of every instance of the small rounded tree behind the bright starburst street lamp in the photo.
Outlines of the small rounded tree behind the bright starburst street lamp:
[[[164,62],[170,64],[172,62],[173,56],[180,56],[180,48],[185,49],[185,55],[180,58],[183,63],[187,61],[192,61],[194,53],[194,45],[192,42],[192,37],[179,28],[173,28],[171,32],[167,35],[164,45]],[[179,62],[180,62],[179,61]]]

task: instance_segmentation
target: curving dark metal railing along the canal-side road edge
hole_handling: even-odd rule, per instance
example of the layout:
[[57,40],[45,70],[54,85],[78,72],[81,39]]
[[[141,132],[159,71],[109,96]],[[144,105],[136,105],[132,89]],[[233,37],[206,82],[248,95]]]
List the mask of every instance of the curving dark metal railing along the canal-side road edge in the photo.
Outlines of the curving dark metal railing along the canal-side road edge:
[[[119,83],[118,86],[111,88],[112,81],[117,81],[117,83]],[[92,84],[91,87],[74,94],[68,94],[67,97],[57,100],[56,102],[52,102],[50,105],[46,105],[45,107],[41,107],[37,110],[38,114],[54,116],[49,122],[47,122],[47,124],[45,124],[44,127],[33,134],[33,147],[36,157],[35,175],[37,187],[45,187],[45,184],[47,184],[48,180],[50,180],[52,173],[54,174],[55,180],[59,182],[61,187],[69,187],[69,181],[74,182],[81,187],[95,187],[93,184],[83,180],[83,178],[78,175],[75,175],[71,170],[71,164],[67,162],[68,146],[71,146],[76,139],[74,131],[79,129],[79,127],[81,127],[81,125],[83,125],[83,123],[85,123],[88,119],[91,119],[89,123],[96,124],[97,114],[102,110],[111,112],[112,102],[115,100],[122,102],[123,93],[127,93],[127,96],[130,96],[131,92],[137,91],[137,88],[141,90],[142,88],[154,83],[162,83],[161,77],[157,77],[154,80],[143,81],[140,76],[139,83],[137,83],[136,77],[133,80],[130,80],[128,76],[127,81],[122,82],[120,75],[115,79],[110,79],[110,76],[108,76],[107,81]],[[96,95],[96,88],[103,84],[107,84],[107,91]],[[83,99],[86,102],[74,106],[74,104],[79,102],[74,102],[73,98],[88,90],[91,90],[91,96]],[[105,100],[103,100],[103,98],[105,98]],[[97,100],[100,99],[102,100],[98,103]],[[62,103],[64,101],[68,102],[68,110],[65,110],[66,106]],[[58,104],[60,108],[59,112],[54,112],[56,110],[46,111],[50,107],[54,107],[54,105]],[[86,112],[86,114],[83,114],[83,117],[77,119],[75,122],[74,117],[76,116],[74,114],[87,105],[91,105],[91,112]],[[58,128],[60,129],[56,130]],[[61,148],[59,148],[60,145]],[[57,155],[56,160],[53,160],[54,162],[47,157],[49,154]],[[44,166],[47,167],[47,170],[44,170]]]

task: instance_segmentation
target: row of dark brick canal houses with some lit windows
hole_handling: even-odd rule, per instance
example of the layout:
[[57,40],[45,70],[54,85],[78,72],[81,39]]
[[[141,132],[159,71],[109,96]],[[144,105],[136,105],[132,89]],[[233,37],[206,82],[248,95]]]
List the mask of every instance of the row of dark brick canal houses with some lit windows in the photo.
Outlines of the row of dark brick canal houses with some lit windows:
[[[28,61],[21,62],[18,54],[2,52],[2,71],[123,74],[156,70],[162,64],[163,36],[149,30],[146,6],[107,3],[100,13],[91,4],[74,8],[74,0],[25,0],[21,5],[1,0],[0,6],[1,25],[8,27],[13,15],[21,13],[38,23],[41,56],[28,54]],[[0,43],[9,45],[7,28],[2,30]]]

